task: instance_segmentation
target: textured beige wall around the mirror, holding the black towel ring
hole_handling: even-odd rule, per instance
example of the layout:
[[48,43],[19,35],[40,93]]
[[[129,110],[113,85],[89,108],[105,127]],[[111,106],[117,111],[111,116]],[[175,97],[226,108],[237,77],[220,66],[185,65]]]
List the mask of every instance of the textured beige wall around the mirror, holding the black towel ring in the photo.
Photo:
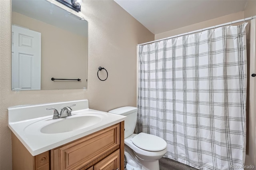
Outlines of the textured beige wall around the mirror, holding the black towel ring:
[[[53,1],[53,0],[52,0]],[[53,1],[54,2],[54,1]],[[54,2],[56,3],[56,2]],[[60,4],[59,4],[60,5]],[[60,5],[62,6],[62,5]],[[65,7],[66,8],[66,7]],[[69,9],[68,9],[69,10]],[[69,10],[72,11],[72,10]],[[91,109],[109,111],[136,106],[136,46],[154,35],[114,1],[84,0],[88,21],[88,89],[11,91],[11,2],[0,3],[0,169],[11,170],[11,135],[7,108],[14,105],[88,99]],[[56,63],[59,67],[58,63]],[[100,81],[98,67],[108,70]]]

